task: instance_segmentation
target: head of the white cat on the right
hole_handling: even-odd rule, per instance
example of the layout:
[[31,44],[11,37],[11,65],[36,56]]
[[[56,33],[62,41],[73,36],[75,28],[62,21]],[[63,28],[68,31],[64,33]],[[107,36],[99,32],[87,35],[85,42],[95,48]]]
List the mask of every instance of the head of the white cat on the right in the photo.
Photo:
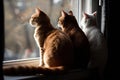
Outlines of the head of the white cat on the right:
[[80,26],[81,27],[90,27],[96,25],[96,16],[97,12],[93,12],[92,14],[83,13],[83,17],[81,19]]

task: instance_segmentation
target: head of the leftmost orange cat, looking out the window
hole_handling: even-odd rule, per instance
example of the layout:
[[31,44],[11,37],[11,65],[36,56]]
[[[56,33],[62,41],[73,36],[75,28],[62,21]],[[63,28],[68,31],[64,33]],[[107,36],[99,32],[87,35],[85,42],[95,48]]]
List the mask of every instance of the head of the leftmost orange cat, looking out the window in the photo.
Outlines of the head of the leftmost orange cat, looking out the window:
[[50,19],[43,11],[36,8],[35,13],[32,14],[29,22],[33,27],[37,27],[41,24],[50,23]]

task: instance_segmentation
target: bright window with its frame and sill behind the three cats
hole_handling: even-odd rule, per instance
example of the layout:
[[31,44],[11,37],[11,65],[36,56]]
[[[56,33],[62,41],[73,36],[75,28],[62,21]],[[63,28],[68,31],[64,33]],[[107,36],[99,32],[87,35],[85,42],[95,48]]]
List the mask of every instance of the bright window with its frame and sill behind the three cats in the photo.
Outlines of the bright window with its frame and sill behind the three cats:
[[28,23],[34,9],[39,7],[57,27],[60,11],[73,11],[78,23],[82,13],[97,10],[98,0],[4,0],[5,51],[4,67],[38,65],[39,49],[33,38],[34,28]]

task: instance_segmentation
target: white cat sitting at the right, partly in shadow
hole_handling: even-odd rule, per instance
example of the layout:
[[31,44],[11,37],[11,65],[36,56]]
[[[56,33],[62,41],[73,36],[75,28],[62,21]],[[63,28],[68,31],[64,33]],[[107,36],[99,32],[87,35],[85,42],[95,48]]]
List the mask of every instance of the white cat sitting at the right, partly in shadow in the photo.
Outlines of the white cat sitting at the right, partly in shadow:
[[91,60],[88,67],[97,68],[99,79],[103,80],[108,52],[104,35],[97,28],[96,15],[96,12],[83,13],[80,26],[90,42]]

